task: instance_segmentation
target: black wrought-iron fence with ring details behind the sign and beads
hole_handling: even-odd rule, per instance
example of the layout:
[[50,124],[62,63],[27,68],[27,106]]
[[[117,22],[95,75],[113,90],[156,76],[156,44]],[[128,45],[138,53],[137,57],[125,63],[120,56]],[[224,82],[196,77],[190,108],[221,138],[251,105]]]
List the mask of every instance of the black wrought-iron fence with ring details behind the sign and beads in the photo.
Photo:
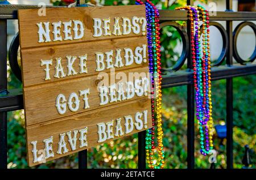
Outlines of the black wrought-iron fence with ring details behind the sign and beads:
[[[187,5],[193,5],[192,0]],[[7,89],[7,20],[18,19],[17,10],[23,8],[38,8],[38,6],[0,5],[0,168],[7,168],[7,112],[23,109],[22,89]],[[184,29],[175,21],[187,21]],[[214,21],[225,21],[226,28]],[[243,21],[233,31],[234,21]],[[217,11],[210,16],[210,25],[216,27],[222,36],[223,48],[220,57],[212,67],[212,80],[226,79],[226,163],[227,168],[233,168],[233,78],[256,74],[256,48],[249,60],[244,60],[237,52],[237,37],[243,27],[249,25],[256,36],[256,25],[251,20],[256,20],[256,12],[232,12],[232,0],[226,1],[226,11]],[[172,26],[177,29],[183,41],[183,51],[176,65],[164,71],[163,88],[187,86],[187,167],[195,166],[195,92],[193,88],[192,60],[190,49],[189,19],[185,11],[160,10],[160,27]],[[14,37],[9,49],[11,70],[21,80],[21,72],[17,61],[19,47],[18,36]],[[233,57],[235,61],[233,61]],[[187,63],[187,70],[180,68]],[[236,63],[233,63],[236,62]],[[223,65],[225,63],[225,65]],[[145,131],[138,134],[138,168],[146,168],[145,156]],[[87,151],[79,152],[79,168],[87,168]]]

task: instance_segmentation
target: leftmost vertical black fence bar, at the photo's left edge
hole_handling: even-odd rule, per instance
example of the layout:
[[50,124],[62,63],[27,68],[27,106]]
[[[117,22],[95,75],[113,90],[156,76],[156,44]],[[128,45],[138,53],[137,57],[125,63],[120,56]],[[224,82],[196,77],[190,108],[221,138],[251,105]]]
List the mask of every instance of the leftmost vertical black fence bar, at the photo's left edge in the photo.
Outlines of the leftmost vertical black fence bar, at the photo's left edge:
[[[7,20],[0,20],[0,92],[7,93]],[[2,101],[0,101],[2,102]],[[0,113],[0,169],[7,168],[7,113]]]

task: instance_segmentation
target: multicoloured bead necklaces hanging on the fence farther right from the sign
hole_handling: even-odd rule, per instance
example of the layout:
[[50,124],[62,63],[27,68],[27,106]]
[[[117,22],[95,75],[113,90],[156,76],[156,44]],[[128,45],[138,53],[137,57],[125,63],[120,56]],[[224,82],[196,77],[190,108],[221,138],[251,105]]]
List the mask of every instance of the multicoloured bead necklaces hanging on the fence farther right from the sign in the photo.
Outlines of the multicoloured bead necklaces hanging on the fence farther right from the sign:
[[[188,10],[191,20],[191,51],[193,63],[193,79],[196,90],[196,118],[199,121],[200,152],[206,156],[213,149],[212,142],[212,100],[210,82],[210,51],[209,51],[209,15],[202,6],[186,6],[176,8]],[[203,21],[203,58],[200,53],[200,12]],[[195,19],[194,19],[195,18]],[[195,25],[194,25],[195,20]],[[194,37],[194,29],[195,37]],[[209,127],[208,127],[209,125]],[[205,132],[205,135],[204,135]]]

